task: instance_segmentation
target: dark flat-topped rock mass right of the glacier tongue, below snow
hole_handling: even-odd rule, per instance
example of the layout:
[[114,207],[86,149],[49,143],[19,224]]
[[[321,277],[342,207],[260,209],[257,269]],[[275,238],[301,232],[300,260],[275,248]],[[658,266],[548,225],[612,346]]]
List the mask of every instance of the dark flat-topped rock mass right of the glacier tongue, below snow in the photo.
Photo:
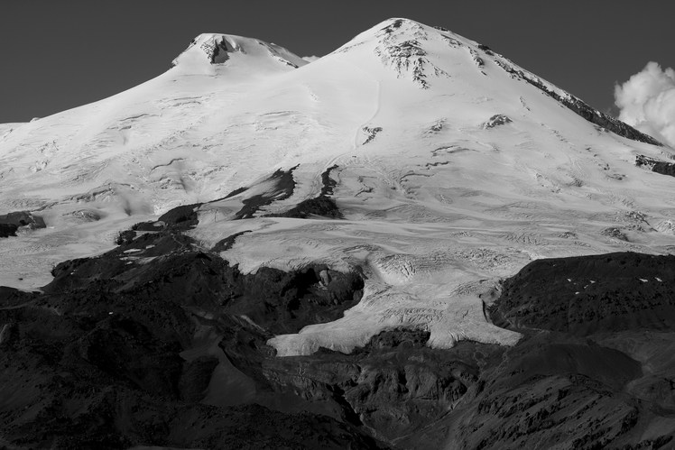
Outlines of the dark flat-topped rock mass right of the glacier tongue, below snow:
[[675,256],[537,260],[504,282],[495,324],[590,335],[675,324]]

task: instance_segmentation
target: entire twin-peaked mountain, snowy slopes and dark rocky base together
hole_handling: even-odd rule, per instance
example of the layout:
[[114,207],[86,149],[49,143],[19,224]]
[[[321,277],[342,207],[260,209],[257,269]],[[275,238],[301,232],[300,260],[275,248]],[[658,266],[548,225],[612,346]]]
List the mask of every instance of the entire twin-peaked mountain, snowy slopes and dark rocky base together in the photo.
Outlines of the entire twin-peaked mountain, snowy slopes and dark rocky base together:
[[667,448],[672,159],[446,29],[201,34],[0,125],[0,442]]

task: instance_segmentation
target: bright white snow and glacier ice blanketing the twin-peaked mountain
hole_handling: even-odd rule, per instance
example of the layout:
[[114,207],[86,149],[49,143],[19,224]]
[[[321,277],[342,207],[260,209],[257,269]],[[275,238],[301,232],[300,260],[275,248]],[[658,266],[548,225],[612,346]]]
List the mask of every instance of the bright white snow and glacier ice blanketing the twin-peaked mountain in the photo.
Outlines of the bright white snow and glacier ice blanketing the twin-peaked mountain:
[[[273,338],[281,355],[349,351],[390,326],[429,329],[439,347],[513,344],[484,302],[532,259],[675,248],[675,179],[634,164],[672,151],[578,105],[485,46],[409,20],[310,64],[202,34],[143,85],[0,127],[0,214],[47,224],[0,241],[0,284],[37,288],[53,263],[102,252],[121,229],[210,202],[190,234],[212,248],[251,231],[222,253],[242,271],[320,262],[367,276],[345,317]],[[292,175],[290,197],[274,193],[277,170]],[[327,179],[344,219],[264,217]],[[255,196],[273,198],[239,220]]]

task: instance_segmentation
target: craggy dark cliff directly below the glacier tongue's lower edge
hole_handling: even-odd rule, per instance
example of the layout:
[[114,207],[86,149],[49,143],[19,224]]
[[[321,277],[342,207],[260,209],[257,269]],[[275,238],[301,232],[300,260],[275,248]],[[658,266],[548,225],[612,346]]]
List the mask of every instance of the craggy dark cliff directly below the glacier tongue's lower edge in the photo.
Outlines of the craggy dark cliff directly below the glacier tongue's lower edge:
[[428,339],[428,332],[393,329],[355,354],[327,350],[267,360],[265,377],[394,442],[452,409],[477,382],[482,345],[431,350]]

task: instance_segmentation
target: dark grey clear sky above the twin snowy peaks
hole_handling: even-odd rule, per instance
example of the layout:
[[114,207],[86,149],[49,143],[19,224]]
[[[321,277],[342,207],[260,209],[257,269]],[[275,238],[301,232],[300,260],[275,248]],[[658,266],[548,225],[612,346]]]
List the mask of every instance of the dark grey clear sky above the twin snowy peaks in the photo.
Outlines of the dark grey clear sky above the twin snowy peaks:
[[169,69],[200,32],[320,56],[389,17],[485,43],[604,111],[615,82],[648,61],[675,67],[667,0],[2,0],[0,123],[134,87]]

